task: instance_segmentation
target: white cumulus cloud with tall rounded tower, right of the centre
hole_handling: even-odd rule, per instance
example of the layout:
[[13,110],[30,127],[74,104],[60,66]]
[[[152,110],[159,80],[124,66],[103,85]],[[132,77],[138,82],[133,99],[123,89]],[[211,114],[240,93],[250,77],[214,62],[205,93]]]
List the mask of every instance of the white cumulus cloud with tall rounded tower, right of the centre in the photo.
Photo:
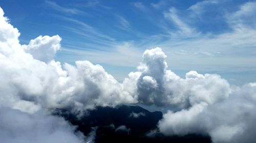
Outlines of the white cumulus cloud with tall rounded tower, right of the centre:
[[123,82],[124,87],[134,82],[133,90],[129,91],[140,103],[183,109],[200,102],[222,101],[231,92],[229,83],[217,74],[190,71],[181,78],[167,70],[166,55],[161,48],[146,50],[142,57],[138,72],[130,73]]

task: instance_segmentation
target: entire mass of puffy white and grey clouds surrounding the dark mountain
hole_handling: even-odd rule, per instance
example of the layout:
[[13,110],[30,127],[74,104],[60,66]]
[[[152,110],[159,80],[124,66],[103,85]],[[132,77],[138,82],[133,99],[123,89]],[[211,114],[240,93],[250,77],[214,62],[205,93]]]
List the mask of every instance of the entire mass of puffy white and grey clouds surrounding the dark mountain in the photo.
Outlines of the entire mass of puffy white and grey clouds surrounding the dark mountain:
[[[61,47],[58,35],[39,36],[29,45],[20,45],[17,28],[1,8],[0,25],[0,125],[5,127],[0,132],[6,142],[79,142],[81,136],[74,134],[73,127],[45,111],[81,112],[95,106],[136,103],[177,110],[168,111],[159,122],[160,132],[166,135],[205,133],[214,142],[256,141],[256,83],[231,88],[217,74],[196,71],[181,78],[167,70],[161,48],[146,50],[138,71],[120,83],[89,61],[77,61],[75,66],[56,62],[54,55]],[[27,136],[34,131],[32,138]],[[46,136],[51,140],[45,140]]]

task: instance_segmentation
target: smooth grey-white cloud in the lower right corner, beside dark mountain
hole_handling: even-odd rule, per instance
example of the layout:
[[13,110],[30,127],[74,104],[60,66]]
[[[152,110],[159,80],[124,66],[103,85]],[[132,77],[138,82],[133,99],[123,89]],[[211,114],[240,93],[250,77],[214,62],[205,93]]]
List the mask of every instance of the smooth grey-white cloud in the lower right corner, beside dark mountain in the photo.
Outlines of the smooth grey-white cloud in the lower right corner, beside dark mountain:
[[214,142],[255,142],[255,93],[255,83],[249,83],[222,102],[202,102],[178,112],[168,111],[158,127],[166,135],[205,133]]

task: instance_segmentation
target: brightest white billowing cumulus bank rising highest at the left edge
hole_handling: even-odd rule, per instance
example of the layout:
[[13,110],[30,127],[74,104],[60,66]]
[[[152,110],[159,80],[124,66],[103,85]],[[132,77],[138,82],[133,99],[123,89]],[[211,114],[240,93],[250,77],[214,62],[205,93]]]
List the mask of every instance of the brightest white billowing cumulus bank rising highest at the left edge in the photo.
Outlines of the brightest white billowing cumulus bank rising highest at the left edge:
[[[100,65],[77,61],[75,66],[54,61],[61,38],[39,36],[20,45],[19,33],[1,9],[0,66],[1,106],[26,110],[69,108],[74,111],[95,106],[136,102],[122,85]],[[23,104],[21,104],[23,103]]]

